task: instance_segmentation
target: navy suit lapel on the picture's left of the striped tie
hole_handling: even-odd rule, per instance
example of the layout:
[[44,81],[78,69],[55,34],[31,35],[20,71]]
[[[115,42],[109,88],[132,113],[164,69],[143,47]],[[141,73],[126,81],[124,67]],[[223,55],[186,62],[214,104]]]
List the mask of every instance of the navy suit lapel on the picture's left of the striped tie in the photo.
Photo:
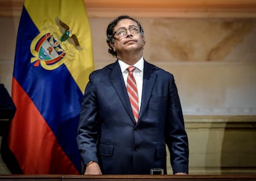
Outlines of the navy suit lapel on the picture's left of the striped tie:
[[113,63],[113,66],[110,67],[109,79],[113,84],[116,94],[119,96],[124,108],[126,108],[127,113],[130,118],[135,121],[134,115],[132,113],[132,108],[130,107],[130,101],[126,90],[126,84],[124,84],[124,79],[122,78],[122,72],[118,62]]

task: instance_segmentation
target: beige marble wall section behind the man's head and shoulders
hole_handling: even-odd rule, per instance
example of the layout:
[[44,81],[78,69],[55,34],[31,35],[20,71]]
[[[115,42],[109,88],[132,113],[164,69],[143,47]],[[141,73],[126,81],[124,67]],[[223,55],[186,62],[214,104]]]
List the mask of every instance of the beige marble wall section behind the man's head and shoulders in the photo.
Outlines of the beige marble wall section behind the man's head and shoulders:
[[[95,66],[111,19],[91,18]],[[256,115],[256,19],[140,18],[144,55],[174,74],[185,115]]]

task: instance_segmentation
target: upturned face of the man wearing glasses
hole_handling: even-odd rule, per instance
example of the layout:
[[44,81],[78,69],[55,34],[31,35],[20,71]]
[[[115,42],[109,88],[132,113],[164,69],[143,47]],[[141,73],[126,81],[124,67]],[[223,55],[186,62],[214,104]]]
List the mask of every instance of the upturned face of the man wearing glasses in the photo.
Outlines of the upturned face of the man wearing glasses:
[[[137,23],[130,19],[122,19],[114,26],[113,31],[116,33],[114,34],[113,49],[117,52],[117,56],[143,50],[144,37],[140,34],[140,28],[136,33],[136,28],[138,28]],[[124,32],[126,35],[122,36]]]

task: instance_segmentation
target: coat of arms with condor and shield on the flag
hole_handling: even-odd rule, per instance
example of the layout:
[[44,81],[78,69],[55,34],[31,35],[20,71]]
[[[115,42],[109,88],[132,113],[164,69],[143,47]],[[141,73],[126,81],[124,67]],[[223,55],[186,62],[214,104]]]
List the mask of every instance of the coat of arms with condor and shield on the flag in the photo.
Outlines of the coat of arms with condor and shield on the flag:
[[33,66],[54,70],[65,60],[73,60],[76,51],[82,47],[69,26],[56,18],[56,25],[45,23],[45,30],[33,39],[30,50],[34,56],[30,61]]

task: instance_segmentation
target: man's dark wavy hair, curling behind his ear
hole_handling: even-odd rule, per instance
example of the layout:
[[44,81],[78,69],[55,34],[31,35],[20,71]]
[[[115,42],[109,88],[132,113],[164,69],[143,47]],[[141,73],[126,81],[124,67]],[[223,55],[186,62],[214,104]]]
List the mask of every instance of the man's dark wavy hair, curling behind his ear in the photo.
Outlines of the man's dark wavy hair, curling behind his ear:
[[113,55],[113,57],[117,57],[116,51],[114,51],[114,49],[110,46],[110,42],[114,42],[113,29],[114,29],[114,26],[116,26],[117,23],[122,19],[130,19],[130,20],[133,20],[134,22],[136,22],[137,25],[140,27],[140,34],[142,36],[144,35],[142,25],[140,25],[140,22],[135,20],[135,18],[132,18],[128,15],[121,15],[121,16],[117,17],[116,19],[114,19],[111,23],[109,23],[107,31],[106,31],[106,34],[107,34],[106,42],[108,43],[108,46],[109,46],[108,52],[109,52],[109,54]]

